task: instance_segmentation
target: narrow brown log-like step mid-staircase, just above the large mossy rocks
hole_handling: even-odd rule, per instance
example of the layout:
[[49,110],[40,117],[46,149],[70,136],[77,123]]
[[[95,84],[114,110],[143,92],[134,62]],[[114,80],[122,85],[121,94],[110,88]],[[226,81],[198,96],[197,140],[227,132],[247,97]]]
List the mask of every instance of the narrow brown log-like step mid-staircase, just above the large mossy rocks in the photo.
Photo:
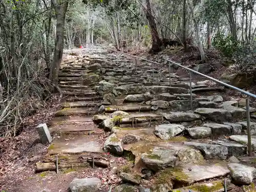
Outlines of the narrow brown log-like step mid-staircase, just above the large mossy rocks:
[[151,105],[127,104],[127,105],[109,105],[104,109],[105,113],[113,113],[115,111],[125,112],[144,112],[151,111]]

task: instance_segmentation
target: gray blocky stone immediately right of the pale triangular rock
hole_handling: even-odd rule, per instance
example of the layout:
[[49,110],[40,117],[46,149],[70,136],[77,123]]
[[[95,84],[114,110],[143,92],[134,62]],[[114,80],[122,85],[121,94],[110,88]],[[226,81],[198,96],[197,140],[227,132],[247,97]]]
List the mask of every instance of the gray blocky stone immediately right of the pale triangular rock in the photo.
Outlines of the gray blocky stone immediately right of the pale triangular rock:
[[193,128],[186,129],[189,137],[192,139],[203,139],[210,137],[211,129],[210,127],[197,126]]

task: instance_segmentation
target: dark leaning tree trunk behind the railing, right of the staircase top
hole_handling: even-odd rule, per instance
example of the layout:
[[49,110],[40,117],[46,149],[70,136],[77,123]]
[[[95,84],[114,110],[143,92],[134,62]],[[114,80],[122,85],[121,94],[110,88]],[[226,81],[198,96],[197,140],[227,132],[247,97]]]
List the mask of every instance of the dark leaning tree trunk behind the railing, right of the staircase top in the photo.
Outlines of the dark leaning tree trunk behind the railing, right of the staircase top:
[[153,15],[152,15],[150,0],[146,0],[146,10],[144,10],[144,11],[145,11],[145,15],[148,20],[148,23],[150,24],[150,29],[151,29],[152,52],[159,52],[162,50],[162,41],[159,38],[159,35],[157,32],[157,25],[156,25]]

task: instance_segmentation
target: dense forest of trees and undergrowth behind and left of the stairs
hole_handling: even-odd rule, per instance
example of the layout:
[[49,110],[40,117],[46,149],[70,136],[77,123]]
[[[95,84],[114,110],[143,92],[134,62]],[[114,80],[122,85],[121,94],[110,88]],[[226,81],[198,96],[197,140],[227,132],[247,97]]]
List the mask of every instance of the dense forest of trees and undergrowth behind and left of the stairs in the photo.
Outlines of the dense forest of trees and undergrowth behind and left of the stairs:
[[[64,49],[113,44],[123,51],[178,41],[251,64],[254,0],[0,0],[0,136],[15,135],[25,116],[58,90]],[[246,58],[245,58],[246,57]],[[247,60],[246,60],[247,59]]]

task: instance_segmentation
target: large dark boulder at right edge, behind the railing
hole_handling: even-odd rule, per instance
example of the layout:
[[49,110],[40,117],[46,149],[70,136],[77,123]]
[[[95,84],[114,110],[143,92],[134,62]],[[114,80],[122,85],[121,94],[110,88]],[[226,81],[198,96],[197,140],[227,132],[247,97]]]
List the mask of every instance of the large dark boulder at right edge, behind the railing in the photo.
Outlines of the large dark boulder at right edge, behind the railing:
[[221,80],[238,88],[251,86],[255,81],[253,73],[225,73],[221,76]]

